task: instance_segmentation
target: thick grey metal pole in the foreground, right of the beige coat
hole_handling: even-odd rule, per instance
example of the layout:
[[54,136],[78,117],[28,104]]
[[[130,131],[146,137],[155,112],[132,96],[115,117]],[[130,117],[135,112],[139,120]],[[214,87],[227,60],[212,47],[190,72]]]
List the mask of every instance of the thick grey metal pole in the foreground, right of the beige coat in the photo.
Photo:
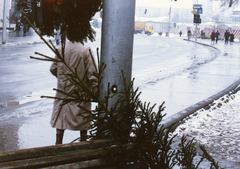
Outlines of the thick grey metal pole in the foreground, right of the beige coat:
[[[131,82],[134,15],[135,0],[103,1],[100,62],[105,63],[107,67],[102,73],[103,88],[99,91],[100,99],[104,98],[108,83],[111,89],[123,91],[122,70],[127,85]],[[116,100],[117,97],[109,100],[109,107],[112,107]]]

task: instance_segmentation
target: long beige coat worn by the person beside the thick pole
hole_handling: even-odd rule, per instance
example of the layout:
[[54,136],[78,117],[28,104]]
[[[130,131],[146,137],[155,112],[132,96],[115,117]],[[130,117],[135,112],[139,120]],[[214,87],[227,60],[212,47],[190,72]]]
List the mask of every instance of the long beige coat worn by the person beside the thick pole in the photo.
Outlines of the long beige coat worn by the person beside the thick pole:
[[[83,46],[81,43],[68,42],[65,46],[65,61],[69,64],[73,70],[77,67],[77,71],[81,79],[83,79],[86,69],[88,69],[87,77],[89,79],[94,78],[91,72],[94,71],[93,61],[90,56],[89,47]],[[61,50],[60,50],[61,51]],[[69,81],[66,81],[66,77],[62,73],[67,73],[69,70],[61,62],[54,62],[50,68],[51,73],[57,77],[59,90],[69,92],[73,89],[73,86],[68,86]],[[67,87],[66,87],[67,86]],[[56,92],[56,97],[66,98],[66,96],[60,92]],[[83,117],[77,116],[82,113],[83,110],[77,106],[77,103],[70,102],[64,106],[61,106],[62,101],[55,99],[53,113],[51,117],[51,125],[57,129],[69,129],[69,130],[88,130],[90,123],[83,125]],[[91,103],[84,103],[84,106],[88,110],[91,109]]]

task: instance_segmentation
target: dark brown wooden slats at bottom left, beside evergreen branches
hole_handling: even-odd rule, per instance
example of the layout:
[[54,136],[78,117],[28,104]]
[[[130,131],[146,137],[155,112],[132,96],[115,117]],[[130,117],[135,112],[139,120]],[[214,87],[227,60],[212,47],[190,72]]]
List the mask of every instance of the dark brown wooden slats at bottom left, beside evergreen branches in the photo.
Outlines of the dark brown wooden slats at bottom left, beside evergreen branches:
[[111,146],[112,140],[93,140],[56,146],[31,148],[0,153],[1,169],[88,169],[108,168],[103,148]]

